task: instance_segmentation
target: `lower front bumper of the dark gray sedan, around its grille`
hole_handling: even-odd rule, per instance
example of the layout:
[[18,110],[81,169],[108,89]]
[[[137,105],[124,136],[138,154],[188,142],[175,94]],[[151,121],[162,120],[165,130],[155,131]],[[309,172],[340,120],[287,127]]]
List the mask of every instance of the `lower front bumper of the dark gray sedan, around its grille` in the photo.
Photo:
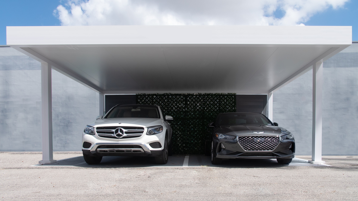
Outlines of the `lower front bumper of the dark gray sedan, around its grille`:
[[287,159],[295,157],[294,139],[282,139],[280,137],[279,144],[271,151],[245,151],[238,143],[237,137],[234,139],[217,139],[213,137],[213,143],[213,155],[217,158]]

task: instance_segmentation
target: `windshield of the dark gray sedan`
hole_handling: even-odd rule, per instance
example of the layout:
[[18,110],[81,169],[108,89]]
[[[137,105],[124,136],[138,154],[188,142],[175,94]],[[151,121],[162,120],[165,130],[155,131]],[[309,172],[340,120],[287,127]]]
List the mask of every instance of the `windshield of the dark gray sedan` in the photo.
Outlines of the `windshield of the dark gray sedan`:
[[273,126],[263,114],[228,113],[220,114],[218,125],[269,125]]

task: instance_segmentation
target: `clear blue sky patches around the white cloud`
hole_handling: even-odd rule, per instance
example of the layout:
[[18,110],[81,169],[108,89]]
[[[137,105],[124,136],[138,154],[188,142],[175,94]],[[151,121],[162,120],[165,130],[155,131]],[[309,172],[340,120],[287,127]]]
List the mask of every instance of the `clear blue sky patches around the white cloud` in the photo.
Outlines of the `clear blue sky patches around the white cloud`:
[[[6,26],[60,26],[62,23],[54,10],[67,1],[59,0],[2,0],[0,1],[0,45],[6,45]],[[276,17],[282,15],[279,11]],[[352,26],[352,40],[358,41],[358,1],[350,0],[343,8],[319,12],[304,22],[305,25]]]

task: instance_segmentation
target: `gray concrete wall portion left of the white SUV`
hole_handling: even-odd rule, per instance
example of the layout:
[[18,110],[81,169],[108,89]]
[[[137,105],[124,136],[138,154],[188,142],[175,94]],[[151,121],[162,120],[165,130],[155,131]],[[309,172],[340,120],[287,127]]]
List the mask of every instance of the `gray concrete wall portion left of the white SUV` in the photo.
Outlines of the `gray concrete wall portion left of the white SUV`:
[[[0,47],[0,151],[41,151],[41,64]],[[81,151],[98,93],[52,70],[53,150]]]

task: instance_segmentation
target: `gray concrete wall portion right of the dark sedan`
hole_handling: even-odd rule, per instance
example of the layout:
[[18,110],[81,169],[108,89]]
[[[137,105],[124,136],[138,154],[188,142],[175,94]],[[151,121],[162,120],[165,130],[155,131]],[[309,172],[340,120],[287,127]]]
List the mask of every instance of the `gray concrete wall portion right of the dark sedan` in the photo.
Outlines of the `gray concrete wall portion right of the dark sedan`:
[[[323,63],[323,155],[358,155],[358,44]],[[274,121],[312,152],[312,70],[274,93]]]

